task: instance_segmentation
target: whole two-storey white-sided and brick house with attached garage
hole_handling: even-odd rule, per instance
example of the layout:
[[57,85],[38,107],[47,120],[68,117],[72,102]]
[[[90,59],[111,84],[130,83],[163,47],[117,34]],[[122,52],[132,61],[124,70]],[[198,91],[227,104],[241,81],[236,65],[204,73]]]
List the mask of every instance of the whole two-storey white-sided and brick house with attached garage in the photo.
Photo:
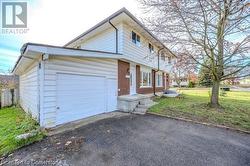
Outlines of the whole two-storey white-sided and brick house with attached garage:
[[175,57],[125,8],[64,47],[27,43],[21,52],[20,105],[46,128],[134,110],[146,98],[138,94],[169,87],[166,59]]

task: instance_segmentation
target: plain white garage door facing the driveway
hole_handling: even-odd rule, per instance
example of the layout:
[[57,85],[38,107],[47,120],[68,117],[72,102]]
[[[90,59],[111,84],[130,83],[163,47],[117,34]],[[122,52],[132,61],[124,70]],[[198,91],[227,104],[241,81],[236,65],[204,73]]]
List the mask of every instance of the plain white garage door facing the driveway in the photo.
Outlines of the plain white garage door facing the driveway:
[[107,110],[104,77],[57,74],[57,125]]

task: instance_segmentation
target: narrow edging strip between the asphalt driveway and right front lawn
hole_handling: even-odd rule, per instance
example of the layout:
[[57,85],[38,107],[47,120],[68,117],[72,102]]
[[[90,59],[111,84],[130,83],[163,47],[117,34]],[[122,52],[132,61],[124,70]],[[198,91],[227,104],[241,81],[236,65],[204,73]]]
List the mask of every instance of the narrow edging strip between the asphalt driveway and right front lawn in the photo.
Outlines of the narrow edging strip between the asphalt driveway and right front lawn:
[[240,132],[240,133],[245,133],[245,134],[250,134],[250,131],[236,129],[236,128],[227,127],[227,126],[223,126],[223,125],[216,125],[216,124],[212,124],[212,123],[204,123],[204,122],[199,122],[199,121],[195,121],[195,120],[191,120],[191,119],[186,119],[186,118],[172,117],[172,116],[169,116],[169,115],[162,115],[162,114],[155,113],[155,112],[147,112],[147,114],[161,116],[161,117],[170,118],[170,119],[174,119],[174,120],[181,120],[181,121],[185,121],[185,122],[192,122],[192,123],[206,125],[206,126],[211,126],[211,127],[217,127],[217,128],[226,129],[226,130],[232,130],[232,131],[236,131],[236,132]]

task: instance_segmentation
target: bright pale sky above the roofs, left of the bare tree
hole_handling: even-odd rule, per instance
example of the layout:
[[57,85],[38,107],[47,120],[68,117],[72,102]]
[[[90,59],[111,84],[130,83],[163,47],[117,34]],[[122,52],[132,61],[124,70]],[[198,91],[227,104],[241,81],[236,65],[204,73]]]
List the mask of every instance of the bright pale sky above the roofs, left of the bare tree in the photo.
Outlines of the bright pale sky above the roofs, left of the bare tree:
[[0,73],[13,68],[20,55],[20,48],[26,42],[62,46],[122,7],[126,7],[137,18],[141,17],[141,10],[136,0],[27,0],[26,2],[28,32],[22,35],[6,35],[2,33],[2,29],[0,31]]

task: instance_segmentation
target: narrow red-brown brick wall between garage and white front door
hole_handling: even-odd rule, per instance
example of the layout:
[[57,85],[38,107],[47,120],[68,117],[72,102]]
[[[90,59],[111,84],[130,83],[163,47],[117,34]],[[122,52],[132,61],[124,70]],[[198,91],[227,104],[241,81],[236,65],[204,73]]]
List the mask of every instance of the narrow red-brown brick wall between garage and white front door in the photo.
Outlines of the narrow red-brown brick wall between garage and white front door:
[[129,63],[118,60],[118,96],[129,94],[129,78],[126,78],[128,71]]

